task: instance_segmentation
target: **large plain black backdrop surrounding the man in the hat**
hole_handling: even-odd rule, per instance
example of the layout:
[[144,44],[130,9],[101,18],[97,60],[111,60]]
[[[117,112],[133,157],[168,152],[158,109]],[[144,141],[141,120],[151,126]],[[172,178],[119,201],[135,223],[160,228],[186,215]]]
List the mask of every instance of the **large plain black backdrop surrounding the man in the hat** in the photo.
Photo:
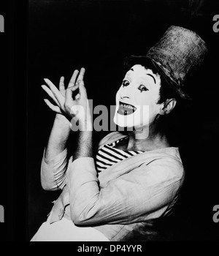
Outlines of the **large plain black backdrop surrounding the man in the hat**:
[[[15,186],[9,194],[12,202],[18,202],[16,192],[20,187],[28,193],[26,204],[20,201],[11,206],[14,217],[19,207],[26,208],[23,215],[25,232],[20,233],[17,239],[30,240],[45,221],[51,202],[59,195],[59,192],[44,191],[40,185],[42,152],[54,118],[54,113],[43,101],[45,93],[40,87],[44,83],[43,78],[49,78],[58,85],[61,75],[67,81],[74,69],[85,67],[85,86],[93,105],[114,105],[115,92],[123,78],[124,57],[147,53],[169,26],[177,25],[196,31],[207,42],[209,55],[201,72],[187,88],[193,104],[181,109],[182,118],[176,117],[177,121],[170,125],[172,137],[178,136],[174,143],[180,146],[186,171],[183,193],[173,216],[174,236],[171,239],[219,240],[218,224],[212,221],[212,208],[218,204],[219,177],[219,33],[212,31],[212,18],[219,14],[216,1],[29,1],[27,13],[28,48],[27,56],[23,56],[28,63],[26,80],[15,83],[26,88],[27,96],[27,127],[22,130],[26,132],[27,141],[26,156],[23,151],[27,187],[16,184],[18,174],[14,175]],[[19,64],[18,59],[16,64]],[[18,103],[16,90],[13,95]],[[16,121],[22,122],[20,118]],[[15,135],[17,140],[19,135]],[[104,132],[96,133],[96,138],[103,135]],[[20,153],[19,146],[13,151],[15,153]],[[17,167],[12,169],[16,171]],[[17,227],[17,222],[15,217],[14,227]],[[14,227],[11,227],[12,233]]]

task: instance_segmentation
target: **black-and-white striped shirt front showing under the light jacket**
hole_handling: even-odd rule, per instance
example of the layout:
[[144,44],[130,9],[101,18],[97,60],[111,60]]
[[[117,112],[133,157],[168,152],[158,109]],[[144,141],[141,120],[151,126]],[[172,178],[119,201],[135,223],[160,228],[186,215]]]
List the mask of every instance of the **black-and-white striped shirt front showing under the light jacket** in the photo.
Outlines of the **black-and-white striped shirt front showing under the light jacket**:
[[[128,138],[128,137],[127,137]],[[136,156],[137,154],[142,153],[143,151],[125,151],[115,146],[121,141],[126,140],[127,138],[122,138],[115,141],[114,143],[106,144],[101,149],[99,149],[96,154],[96,169],[101,172],[106,170],[108,167],[115,165],[117,162],[122,161],[128,157]]]

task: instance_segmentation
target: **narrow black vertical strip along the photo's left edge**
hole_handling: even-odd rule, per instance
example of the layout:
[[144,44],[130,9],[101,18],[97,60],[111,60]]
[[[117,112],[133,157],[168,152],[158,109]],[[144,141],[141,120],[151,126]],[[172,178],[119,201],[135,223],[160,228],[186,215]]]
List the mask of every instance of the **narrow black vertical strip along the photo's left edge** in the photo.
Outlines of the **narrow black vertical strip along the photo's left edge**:
[[[27,1],[0,1],[1,185],[4,223],[0,241],[25,241],[26,180],[26,37]],[[9,249],[7,247],[7,249]]]

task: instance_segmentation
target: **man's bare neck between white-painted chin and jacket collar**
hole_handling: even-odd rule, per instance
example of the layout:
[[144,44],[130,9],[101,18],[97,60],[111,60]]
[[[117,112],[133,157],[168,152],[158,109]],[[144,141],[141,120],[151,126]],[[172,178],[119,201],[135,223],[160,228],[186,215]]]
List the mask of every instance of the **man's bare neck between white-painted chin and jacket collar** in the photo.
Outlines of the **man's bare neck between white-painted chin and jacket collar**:
[[131,131],[128,136],[128,150],[151,151],[170,146],[166,135],[155,131],[153,127],[142,127],[141,131]]

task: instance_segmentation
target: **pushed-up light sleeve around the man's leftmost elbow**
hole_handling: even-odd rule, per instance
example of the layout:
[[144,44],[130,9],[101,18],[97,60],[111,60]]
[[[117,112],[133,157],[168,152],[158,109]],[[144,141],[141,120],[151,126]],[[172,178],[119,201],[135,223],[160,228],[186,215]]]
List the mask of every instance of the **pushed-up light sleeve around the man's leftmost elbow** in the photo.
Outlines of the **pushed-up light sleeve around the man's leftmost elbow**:
[[68,162],[66,149],[53,159],[46,159],[44,151],[41,163],[41,184],[44,189],[63,189]]

